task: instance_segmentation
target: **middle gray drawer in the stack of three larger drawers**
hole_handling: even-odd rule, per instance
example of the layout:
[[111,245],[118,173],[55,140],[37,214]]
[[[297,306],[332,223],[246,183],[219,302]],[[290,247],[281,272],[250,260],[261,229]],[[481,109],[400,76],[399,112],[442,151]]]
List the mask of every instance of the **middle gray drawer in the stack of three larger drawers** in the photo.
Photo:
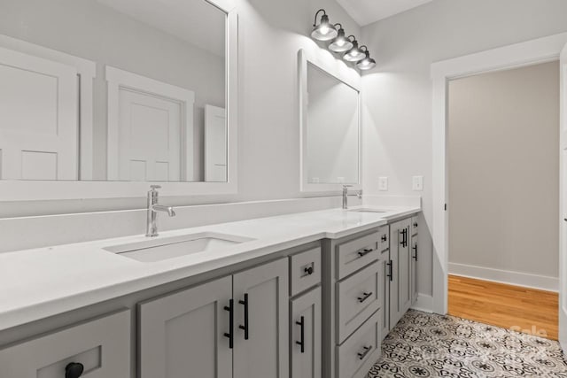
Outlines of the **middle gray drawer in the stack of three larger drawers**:
[[380,280],[384,279],[379,261],[337,282],[337,339],[342,343],[356,328],[381,307]]

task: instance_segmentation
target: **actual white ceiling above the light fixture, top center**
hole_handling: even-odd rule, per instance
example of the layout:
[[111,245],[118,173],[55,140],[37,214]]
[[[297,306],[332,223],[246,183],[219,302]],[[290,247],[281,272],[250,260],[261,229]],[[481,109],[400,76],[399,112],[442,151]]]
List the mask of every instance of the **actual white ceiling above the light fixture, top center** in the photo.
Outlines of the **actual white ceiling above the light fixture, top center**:
[[379,19],[408,11],[432,0],[337,0],[345,11],[361,26]]

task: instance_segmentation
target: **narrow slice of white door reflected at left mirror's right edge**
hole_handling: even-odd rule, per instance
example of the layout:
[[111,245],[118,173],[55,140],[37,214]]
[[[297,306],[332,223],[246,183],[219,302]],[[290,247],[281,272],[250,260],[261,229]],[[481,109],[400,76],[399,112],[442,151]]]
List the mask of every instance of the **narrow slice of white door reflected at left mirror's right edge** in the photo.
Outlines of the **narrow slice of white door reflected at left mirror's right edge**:
[[205,105],[205,181],[227,181],[227,112]]

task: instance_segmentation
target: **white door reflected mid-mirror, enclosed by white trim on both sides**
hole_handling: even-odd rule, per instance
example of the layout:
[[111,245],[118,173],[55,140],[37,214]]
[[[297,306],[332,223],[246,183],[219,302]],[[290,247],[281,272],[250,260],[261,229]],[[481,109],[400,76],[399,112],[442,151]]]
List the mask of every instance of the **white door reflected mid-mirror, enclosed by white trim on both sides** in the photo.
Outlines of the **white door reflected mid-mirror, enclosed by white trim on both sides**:
[[120,89],[120,180],[180,181],[182,106]]

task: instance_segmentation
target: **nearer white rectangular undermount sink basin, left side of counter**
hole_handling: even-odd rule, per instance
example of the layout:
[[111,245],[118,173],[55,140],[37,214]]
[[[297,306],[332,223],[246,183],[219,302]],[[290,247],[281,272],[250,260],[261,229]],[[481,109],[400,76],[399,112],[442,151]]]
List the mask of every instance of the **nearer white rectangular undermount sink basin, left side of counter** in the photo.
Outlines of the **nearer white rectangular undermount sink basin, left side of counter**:
[[252,240],[237,235],[200,233],[148,240],[147,242],[113,245],[104,248],[104,250],[137,261],[156,262],[193,253],[222,251],[232,245]]

